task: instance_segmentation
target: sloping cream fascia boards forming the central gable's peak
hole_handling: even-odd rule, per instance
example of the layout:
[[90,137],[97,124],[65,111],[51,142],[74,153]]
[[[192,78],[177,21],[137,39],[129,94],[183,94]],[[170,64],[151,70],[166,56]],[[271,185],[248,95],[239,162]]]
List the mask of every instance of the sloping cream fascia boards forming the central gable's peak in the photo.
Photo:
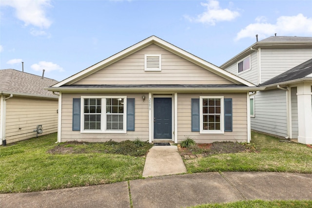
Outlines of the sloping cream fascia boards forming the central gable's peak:
[[196,57],[176,46],[174,46],[173,44],[164,41],[160,38],[157,38],[156,36],[151,36],[150,38],[146,38],[145,40],[142,40],[141,42],[138,42],[137,44],[130,46],[129,48],[111,56],[106,58],[105,60],[102,60],[100,62],[98,62],[97,64],[77,73],[76,75],[73,75],[67,79],[64,79],[63,81],[60,81],[59,83],[53,85],[52,87],[60,87],[62,85],[68,85],[68,84],[73,84],[74,82],[78,81],[79,79],[86,77],[94,72],[96,72],[97,70],[100,70],[101,68],[104,68],[105,66],[108,66],[118,60],[120,60],[123,57],[129,56],[132,53],[135,53],[136,51],[150,45],[150,44],[156,44],[162,48],[165,48],[166,50],[180,56],[183,58],[186,58],[187,60],[219,75],[222,76],[224,78],[227,78],[228,80],[234,82],[235,84],[244,84],[247,85],[249,87],[254,87],[255,85],[246,81],[245,79],[242,79],[238,76],[235,76],[223,69],[220,69],[219,67],[199,58]]

